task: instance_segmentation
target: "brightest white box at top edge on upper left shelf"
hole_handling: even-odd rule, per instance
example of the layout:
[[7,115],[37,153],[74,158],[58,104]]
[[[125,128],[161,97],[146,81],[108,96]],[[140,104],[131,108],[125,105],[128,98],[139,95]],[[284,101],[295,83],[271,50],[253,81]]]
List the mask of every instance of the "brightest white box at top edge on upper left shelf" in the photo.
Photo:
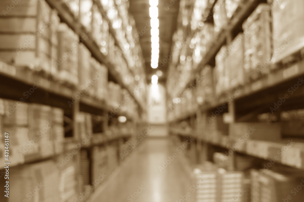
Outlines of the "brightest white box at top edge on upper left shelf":
[[80,23],[85,26],[87,31],[92,29],[92,0],[79,1],[79,20]]

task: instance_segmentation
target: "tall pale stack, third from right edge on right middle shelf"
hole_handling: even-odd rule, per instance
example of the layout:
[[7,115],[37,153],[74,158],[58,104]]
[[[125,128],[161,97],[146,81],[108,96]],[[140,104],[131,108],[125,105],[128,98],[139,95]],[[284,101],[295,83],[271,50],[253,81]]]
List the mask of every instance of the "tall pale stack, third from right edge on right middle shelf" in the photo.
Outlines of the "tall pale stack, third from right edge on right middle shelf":
[[244,35],[239,34],[228,46],[229,88],[244,85]]

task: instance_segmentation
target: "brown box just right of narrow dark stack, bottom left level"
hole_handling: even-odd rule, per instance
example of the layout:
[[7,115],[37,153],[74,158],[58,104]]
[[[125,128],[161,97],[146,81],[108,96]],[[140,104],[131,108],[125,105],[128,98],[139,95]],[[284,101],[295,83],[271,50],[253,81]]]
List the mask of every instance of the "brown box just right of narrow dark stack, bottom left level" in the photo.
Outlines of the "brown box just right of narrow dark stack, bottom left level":
[[109,174],[109,167],[108,167],[108,154],[105,148],[102,147],[93,147],[92,149],[92,164],[91,164],[91,171],[92,171],[92,180],[98,179],[100,174]]

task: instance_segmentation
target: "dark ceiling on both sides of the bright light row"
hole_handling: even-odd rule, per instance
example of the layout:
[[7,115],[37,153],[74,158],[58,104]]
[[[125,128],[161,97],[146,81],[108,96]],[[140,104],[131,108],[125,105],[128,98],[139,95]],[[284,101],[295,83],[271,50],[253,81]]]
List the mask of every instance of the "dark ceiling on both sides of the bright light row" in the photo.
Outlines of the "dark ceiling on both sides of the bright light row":
[[[179,0],[158,0],[158,20],[159,20],[159,60],[158,68],[151,68],[151,27],[149,15],[149,0],[130,0],[129,12],[133,15],[136,22],[136,29],[143,57],[146,64],[146,78],[151,80],[151,76],[157,70],[161,70],[163,75],[159,81],[167,78],[168,64],[167,58],[170,56],[172,47],[172,36],[176,30]],[[170,57],[169,57],[170,58]],[[162,65],[160,63],[163,62]],[[162,67],[161,67],[162,66]]]

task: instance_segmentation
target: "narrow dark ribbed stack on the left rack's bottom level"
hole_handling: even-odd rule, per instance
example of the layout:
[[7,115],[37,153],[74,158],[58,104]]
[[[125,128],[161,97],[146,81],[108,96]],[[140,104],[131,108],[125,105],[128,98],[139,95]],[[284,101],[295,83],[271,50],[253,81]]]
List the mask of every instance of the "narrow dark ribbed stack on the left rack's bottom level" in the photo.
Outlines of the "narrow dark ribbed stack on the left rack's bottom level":
[[90,185],[90,160],[88,158],[88,151],[84,149],[80,151],[79,171],[81,184],[83,185],[82,191],[84,191]]

